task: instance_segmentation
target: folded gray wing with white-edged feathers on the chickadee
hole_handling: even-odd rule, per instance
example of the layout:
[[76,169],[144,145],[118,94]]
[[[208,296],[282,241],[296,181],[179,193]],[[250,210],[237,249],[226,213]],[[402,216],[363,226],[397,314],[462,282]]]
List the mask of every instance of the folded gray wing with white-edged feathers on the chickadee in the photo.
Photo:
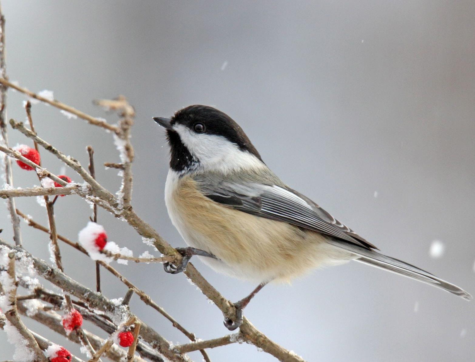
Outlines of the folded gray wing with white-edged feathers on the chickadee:
[[285,221],[295,226],[357,244],[376,247],[343,225],[312,200],[295,190],[255,182],[233,182],[199,176],[198,187],[209,199],[249,214]]

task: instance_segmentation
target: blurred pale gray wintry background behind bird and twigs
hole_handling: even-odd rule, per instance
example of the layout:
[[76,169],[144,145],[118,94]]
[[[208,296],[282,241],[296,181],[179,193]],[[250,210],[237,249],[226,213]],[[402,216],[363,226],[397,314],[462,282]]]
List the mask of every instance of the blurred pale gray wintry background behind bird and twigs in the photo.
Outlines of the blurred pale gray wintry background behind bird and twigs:
[[[2,4],[11,80],[30,90],[53,90],[58,100],[109,122],[117,117],[104,115],[92,99],[124,94],[135,106],[133,207],[172,245],[184,242],[164,205],[168,150],[151,118],[209,104],[237,120],[285,182],[383,253],[475,292],[473,1]],[[9,117],[25,118],[23,99],[9,92]],[[33,115],[40,136],[84,165],[87,144],[95,147],[98,165],[118,161],[112,137],[102,129],[44,105],[33,106]],[[17,142],[28,140],[11,131],[10,143]],[[57,159],[42,155],[51,171],[60,172]],[[15,186],[38,183],[33,172],[14,171]],[[79,181],[71,170],[67,174]],[[118,188],[116,171],[99,167],[97,174],[104,185]],[[47,223],[46,210],[34,199],[18,199],[17,205]],[[0,212],[2,235],[10,239],[5,208]],[[56,212],[59,233],[76,240],[89,207],[71,196],[59,199]],[[99,222],[134,255],[150,250],[103,210]],[[24,223],[22,233],[25,247],[48,260],[47,235]],[[435,239],[446,245],[440,259],[428,253]],[[66,272],[94,288],[93,262],[66,245],[62,253]],[[195,264],[231,300],[254,288]],[[183,275],[165,274],[161,265],[114,265],[199,338],[228,332],[218,308]],[[126,291],[106,271],[103,284],[109,298]],[[136,297],[131,306],[171,341],[187,342]],[[309,361],[473,361],[474,306],[351,262],[292,286],[268,286],[245,314]],[[12,354],[5,336],[0,332],[0,360]],[[274,361],[251,345],[209,354],[213,361]]]

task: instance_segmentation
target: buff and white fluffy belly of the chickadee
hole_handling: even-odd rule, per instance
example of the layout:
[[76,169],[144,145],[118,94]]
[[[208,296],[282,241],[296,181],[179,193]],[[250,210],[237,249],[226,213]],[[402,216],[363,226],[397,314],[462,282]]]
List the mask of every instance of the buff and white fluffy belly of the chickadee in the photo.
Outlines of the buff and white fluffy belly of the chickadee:
[[219,260],[200,259],[217,272],[257,282],[289,281],[316,267],[351,259],[319,233],[208,199],[190,178],[178,180],[168,191],[173,225],[188,245],[216,255]]

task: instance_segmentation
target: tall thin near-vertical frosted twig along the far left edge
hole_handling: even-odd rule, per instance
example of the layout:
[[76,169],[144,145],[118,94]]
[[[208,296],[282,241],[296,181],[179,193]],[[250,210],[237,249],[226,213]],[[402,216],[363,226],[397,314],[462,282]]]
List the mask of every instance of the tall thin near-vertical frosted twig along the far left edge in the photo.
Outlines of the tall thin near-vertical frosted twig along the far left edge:
[[[7,66],[5,62],[5,17],[0,6],[0,76],[1,78],[7,78]],[[8,148],[8,134],[7,134],[7,87],[0,87],[0,145]],[[3,156],[3,166],[5,168],[5,182],[7,185],[13,187],[13,175],[11,170],[11,160],[5,154]],[[13,240],[15,245],[21,246],[21,231],[20,220],[15,215],[15,199],[7,199],[7,208],[11,217],[11,224],[13,226]]]

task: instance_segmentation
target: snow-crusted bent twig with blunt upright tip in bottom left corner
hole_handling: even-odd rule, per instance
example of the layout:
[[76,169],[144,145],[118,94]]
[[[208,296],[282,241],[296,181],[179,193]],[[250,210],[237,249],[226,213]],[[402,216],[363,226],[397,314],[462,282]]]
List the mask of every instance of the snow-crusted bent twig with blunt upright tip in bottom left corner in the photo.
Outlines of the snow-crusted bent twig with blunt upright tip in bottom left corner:
[[[9,263],[8,263],[8,277],[10,281],[8,285],[0,284],[0,291],[8,298],[9,309],[3,310],[5,317],[8,319],[10,324],[17,329],[19,334],[25,339],[26,346],[31,350],[35,361],[38,362],[47,362],[47,358],[41,351],[41,348],[38,346],[38,342],[35,340],[31,332],[21,321],[18,310],[17,310],[17,280],[15,276],[15,257],[16,253],[11,251],[8,253]],[[18,346],[16,346],[18,347]]]

